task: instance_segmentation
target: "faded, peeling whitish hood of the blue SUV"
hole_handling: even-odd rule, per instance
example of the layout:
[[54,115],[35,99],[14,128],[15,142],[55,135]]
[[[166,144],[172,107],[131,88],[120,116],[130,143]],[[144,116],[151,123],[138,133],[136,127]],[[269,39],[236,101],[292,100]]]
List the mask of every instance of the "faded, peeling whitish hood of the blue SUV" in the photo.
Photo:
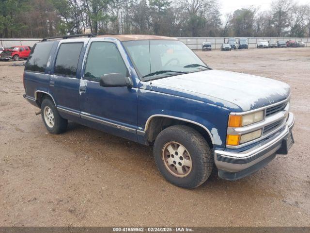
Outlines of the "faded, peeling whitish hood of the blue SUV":
[[232,111],[248,111],[290,95],[286,83],[223,70],[205,70],[153,80],[146,89],[202,100]]

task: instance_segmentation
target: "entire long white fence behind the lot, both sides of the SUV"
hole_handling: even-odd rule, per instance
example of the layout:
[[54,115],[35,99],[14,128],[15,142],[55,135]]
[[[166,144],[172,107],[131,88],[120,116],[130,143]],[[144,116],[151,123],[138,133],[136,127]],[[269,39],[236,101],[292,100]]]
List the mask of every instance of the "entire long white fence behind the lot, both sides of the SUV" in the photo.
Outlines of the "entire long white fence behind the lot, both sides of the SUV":
[[[202,49],[203,42],[211,42],[212,49],[220,49],[221,44],[224,40],[227,41],[227,37],[177,37],[180,41],[185,43],[192,50]],[[236,37],[238,39],[238,37]],[[256,48],[256,44],[260,39],[264,40],[297,40],[303,41],[306,47],[310,47],[310,38],[296,38],[296,37],[248,37],[248,48]],[[41,41],[42,39],[2,39],[0,38],[1,47],[12,47],[18,45],[28,45],[33,46],[35,43]]]

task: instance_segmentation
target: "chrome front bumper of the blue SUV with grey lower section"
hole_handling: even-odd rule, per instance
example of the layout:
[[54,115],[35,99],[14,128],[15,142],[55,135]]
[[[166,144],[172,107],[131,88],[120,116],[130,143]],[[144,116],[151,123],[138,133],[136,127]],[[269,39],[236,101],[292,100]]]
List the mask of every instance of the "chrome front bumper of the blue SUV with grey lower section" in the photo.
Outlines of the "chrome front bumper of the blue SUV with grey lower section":
[[241,179],[265,166],[276,154],[283,154],[283,143],[286,143],[293,126],[294,114],[289,113],[284,129],[262,143],[242,152],[215,150],[218,176],[225,180]]

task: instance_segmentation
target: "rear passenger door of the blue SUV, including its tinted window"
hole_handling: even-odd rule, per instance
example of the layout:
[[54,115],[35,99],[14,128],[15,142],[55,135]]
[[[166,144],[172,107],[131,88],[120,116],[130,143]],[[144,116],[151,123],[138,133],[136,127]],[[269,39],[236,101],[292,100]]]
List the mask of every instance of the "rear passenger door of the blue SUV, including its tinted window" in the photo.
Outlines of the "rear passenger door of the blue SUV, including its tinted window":
[[50,76],[49,90],[57,103],[57,109],[66,119],[79,117],[77,78],[78,61],[83,41],[62,42],[58,46],[53,71]]

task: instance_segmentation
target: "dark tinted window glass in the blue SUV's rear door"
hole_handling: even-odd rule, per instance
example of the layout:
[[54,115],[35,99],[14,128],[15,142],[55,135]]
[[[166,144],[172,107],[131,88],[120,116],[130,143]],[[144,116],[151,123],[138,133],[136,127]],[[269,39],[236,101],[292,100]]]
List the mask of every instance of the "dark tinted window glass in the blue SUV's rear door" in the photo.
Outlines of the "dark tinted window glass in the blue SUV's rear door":
[[55,63],[55,74],[75,76],[78,68],[78,58],[83,43],[61,44]]

